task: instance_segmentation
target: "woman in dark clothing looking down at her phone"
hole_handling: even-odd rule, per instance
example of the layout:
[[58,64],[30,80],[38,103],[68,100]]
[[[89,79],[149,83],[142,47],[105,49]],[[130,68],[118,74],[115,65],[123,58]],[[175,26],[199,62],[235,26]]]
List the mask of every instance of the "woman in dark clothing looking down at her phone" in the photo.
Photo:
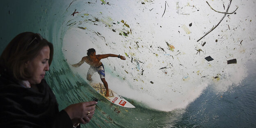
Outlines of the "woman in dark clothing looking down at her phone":
[[2,128],[80,128],[96,101],[69,105],[59,112],[46,80],[53,44],[40,34],[18,34],[0,56],[0,126]]

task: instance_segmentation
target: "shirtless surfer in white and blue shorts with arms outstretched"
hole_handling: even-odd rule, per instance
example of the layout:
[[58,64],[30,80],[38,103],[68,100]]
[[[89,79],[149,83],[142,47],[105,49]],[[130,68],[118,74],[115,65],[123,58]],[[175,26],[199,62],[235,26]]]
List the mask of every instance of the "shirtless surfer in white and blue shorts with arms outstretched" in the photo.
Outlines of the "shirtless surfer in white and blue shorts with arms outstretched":
[[96,51],[94,48],[90,48],[87,50],[87,56],[82,57],[82,60],[78,62],[77,64],[73,64],[72,66],[74,67],[79,67],[81,66],[84,62],[90,65],[90,68],[87,72],[87,80],[90,82],[92,81],[91,76],[95,73],[98,72],[98,74],[101,77],[101,81],[103,82],[104,87],[106,88],[106,95],[109,96],[109,91],[108,91],[108,85],[105,80],[105,69],[104,65],[101,62],[101,59],[107,58],[107,57],[118,57],[122,60],[126,60],[125,57],[121,55],[114,55],[114,54],[103,54],[103,55],[96,55]]

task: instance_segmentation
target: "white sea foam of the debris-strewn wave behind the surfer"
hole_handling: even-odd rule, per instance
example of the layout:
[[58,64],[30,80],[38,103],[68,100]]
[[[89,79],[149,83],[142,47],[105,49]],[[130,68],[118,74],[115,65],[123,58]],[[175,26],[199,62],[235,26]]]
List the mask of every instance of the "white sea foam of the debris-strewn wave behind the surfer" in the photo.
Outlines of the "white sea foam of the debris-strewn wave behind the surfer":
[[[249,7],[254,9],[254,3],[233,1],[229,12],[239,7],[237,14],[229,14],[197,42],[224,15],[207,3],[172,1],[165,6],[165,1],[111,1],[112,5],[99,2],[80,4],[80,13],[66,19],[77,23],[70,26],[63,39],[67,62],[79,62],[89,48],[96,49],[96,54],[127,55],[126,61],[102,59],[106,81],[118,94],[153,109],[185,108],[210,84],[216,91],[227,91],[247,76],[246,62],[256,59],[256,11],[247,11]],[[222,6],[227,8],[229,1],[209,4],[225,11]],[[130,33],[126,37],[123,32]],[[202,51],[197,53],[199,49]],[[204,59],[208,56],[214,60]],[[230,59],[236,59],[237,64],[227,64]],[[86,80],[88,64],[71,68]],[[92,78],[100,81],[97,73]]]

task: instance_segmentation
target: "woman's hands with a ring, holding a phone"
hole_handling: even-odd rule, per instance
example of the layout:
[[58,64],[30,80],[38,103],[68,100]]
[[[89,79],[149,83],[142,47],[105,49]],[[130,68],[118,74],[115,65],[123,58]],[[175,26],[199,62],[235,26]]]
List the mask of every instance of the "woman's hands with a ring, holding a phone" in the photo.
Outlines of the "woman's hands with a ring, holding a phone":
[[64,110],[69,114],[73,124],[89,123],[94,114],[96,104],[96,101],[82,102],[69,105]]

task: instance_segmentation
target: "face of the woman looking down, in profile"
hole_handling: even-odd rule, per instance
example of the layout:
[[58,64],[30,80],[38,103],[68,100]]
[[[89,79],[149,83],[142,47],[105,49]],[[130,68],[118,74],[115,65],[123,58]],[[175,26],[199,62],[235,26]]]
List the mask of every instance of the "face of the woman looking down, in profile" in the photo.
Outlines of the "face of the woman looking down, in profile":
[[48,60],[50,59],[49,46],[43,47],[39,52],[39,55],[26,63],[26,68],[32,76],[28,81],[30,85],[36,85],[41,83],[46,71],[49,71]]

